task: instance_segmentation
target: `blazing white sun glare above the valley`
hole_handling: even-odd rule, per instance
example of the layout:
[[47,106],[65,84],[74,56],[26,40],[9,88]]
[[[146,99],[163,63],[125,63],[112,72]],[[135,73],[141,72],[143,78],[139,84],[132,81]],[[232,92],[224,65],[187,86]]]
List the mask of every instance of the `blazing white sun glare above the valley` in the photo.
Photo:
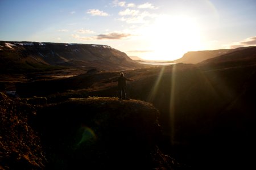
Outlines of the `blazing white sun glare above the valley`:
[[203,48],[200,27],[189,16],[160,15],[145,33],[154,51],[148,56],[152,59],[172,61]]

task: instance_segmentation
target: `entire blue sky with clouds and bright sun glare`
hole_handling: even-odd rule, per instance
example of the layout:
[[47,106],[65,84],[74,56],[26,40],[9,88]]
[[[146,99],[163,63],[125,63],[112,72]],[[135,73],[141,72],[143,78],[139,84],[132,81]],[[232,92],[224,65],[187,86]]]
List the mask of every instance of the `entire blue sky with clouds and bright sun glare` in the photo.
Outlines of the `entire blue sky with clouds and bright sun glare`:
[[256,1],[0,0],[0,40],[103,44],[172,61],[256,45]]

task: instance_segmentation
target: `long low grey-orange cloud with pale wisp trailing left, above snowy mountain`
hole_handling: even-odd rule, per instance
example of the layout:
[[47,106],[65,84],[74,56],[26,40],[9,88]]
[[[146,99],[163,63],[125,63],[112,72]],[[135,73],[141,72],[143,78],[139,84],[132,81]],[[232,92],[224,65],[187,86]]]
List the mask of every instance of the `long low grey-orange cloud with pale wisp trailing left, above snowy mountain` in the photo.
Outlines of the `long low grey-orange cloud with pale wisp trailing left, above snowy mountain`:
[[132,35],[130,33],[112,32],[91,37],[81,37],[77,34],[72,34],[71,36],[79,40],[123,40],[128,39]]

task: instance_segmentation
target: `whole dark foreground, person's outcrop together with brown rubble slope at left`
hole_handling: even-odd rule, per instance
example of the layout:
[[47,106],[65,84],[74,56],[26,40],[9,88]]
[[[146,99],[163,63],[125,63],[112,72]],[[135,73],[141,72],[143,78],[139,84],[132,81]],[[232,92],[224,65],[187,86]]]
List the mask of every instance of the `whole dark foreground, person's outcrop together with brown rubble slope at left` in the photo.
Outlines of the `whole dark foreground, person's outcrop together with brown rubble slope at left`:
[[188,169],[158,147],[159,111],[150,103],[0,100],[0,169]]

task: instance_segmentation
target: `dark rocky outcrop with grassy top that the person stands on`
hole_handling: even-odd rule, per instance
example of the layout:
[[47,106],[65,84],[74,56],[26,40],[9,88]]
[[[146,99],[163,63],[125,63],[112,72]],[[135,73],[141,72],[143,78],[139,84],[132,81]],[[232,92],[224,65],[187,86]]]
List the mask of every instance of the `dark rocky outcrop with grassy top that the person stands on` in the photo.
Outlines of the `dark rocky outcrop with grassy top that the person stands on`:
[[159,150],[159,112],[139,100],[69,99],[38,112],[48,168],[174,169]]

